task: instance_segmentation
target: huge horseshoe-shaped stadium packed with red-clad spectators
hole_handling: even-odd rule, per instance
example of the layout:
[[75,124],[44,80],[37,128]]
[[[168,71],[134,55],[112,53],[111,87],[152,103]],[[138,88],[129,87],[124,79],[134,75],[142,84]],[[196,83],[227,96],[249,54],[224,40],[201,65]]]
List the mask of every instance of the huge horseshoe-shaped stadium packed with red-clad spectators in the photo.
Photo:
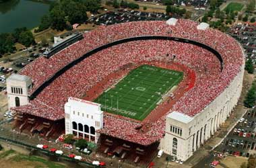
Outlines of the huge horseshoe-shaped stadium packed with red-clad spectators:
[[205,23],[171,18],[100,26],[7,79],[20,131],[74,134],[101,153],[187,160],[240,97],[244,53]]

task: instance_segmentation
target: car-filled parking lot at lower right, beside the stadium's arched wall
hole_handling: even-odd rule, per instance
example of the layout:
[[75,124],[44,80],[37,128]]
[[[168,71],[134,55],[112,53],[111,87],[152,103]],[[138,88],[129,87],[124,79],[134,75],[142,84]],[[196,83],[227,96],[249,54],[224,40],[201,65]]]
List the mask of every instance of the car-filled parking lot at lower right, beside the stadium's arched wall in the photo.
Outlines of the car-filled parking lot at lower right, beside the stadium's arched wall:
[[256,153],[256,108],[247,111],[216,150],[242,157]]

